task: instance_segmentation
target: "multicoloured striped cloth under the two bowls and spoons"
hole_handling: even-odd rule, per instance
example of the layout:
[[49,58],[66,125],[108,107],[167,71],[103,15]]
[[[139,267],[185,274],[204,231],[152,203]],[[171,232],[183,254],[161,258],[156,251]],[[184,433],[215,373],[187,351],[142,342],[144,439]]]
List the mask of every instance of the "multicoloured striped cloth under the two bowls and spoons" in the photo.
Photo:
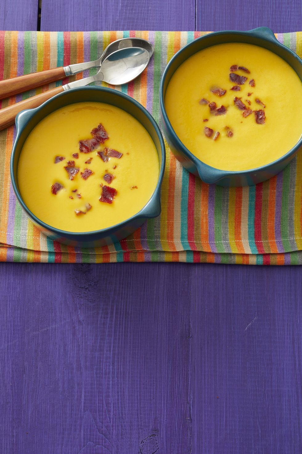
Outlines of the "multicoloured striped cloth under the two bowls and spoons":
[[[159,123],[161,74],[182,46],[205,32],[0,32],[0,79],[94,60],[109,42],[149,39],[154,58],[140,79],[112,87],[151,112]],[[276,35],[302,56],[302,33]],[[81,79],[96,69],[77,74]],[[14,104],[62,84],[1,102]],[[246,188],[202,183],[176,161],[166,144],[161,216],[125,240],[98,249],[75,249],[46,238],[16,202],[9,175],[15,127],[0,131],[0,261],[11,262],[211,262],[302,264],[302,154],[271,180]],[[190,197],[189,197],[190,195]]]

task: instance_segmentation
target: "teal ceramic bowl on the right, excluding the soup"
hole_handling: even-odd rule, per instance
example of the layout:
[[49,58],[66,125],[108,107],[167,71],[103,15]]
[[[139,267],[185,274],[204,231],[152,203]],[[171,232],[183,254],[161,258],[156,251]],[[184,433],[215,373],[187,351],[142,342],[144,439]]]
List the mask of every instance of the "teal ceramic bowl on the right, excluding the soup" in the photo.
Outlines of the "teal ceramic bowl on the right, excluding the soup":
[[215,44],[231,42],[255,44],[272,51],[284,59],[296,71],[300,79],[302,79],[302,60],[297,54],[287,49],[283,44],[280,44],[269,28],[260,27],[249,31],[220,31],[210,33],[187,44],[174,55],[167,65],[160,86],[161,123],[172,152],[189,172],[201,178],[205,183],[215,183],[221,186],[249,186],[265,181],[279,173],[302,148],[302,138],[291,150],[284,150],[284,155],[281,158],[262,167],[241,172],[220,170],[203,163],[185,147],[173,130],[165,109],[166,89],[176,69],[186,59],[201,49],[214,46]]

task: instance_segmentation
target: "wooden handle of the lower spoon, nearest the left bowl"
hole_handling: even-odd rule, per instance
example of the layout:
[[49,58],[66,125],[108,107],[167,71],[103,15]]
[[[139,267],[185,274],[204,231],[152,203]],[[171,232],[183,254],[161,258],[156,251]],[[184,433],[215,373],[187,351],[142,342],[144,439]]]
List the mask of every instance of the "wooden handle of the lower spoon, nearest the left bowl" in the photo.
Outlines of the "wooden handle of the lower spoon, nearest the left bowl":
[[40,104],[52,98],[55,94],[64,91],[63,87],[57,87],[52,90],[45,91],[45,93],[37,94],[32,98],[20,101],[20,103],[13,104],[12,106],[5,107],[0,110],[0,130],[5,129],[15,123],[15,116],[24,109],[33,109],[40,106]]

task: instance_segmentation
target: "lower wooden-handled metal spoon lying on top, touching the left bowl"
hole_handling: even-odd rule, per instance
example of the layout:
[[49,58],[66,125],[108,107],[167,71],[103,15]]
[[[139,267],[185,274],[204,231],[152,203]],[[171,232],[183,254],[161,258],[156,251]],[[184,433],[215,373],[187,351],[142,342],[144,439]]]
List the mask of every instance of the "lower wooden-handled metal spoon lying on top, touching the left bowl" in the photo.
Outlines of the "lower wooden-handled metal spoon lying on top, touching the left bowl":
[[20,101],[5,109],[0,109],[0,130],[7,128],[15,123],[15,116],[24,109],[33,109],[40,106],[47,99],[52,98],[55,94],[76,87],[84,87],[92,82],[105,81],[112,85],[121,85],[130,82],[139,76],[146,68],[150,60],[150,54],[146,49],[140,47],[128,47],[126,49],[116,50],[108,55],[101,64],[101,68],[94,76],[85,79],[76,80],[45,93],[38,94],[25,101]]

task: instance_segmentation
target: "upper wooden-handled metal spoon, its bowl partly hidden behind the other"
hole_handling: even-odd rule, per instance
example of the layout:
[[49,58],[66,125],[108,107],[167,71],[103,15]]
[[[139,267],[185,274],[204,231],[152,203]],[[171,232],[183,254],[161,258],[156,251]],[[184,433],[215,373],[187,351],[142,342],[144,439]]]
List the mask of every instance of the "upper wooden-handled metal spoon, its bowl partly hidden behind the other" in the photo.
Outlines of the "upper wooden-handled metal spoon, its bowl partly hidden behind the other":
[[41,85],[50,84],[55,80],[64,79],[66,76],[76,74],[85,69],[94,68],[101,66],[101,63],[108,57],[108,55],[116,52],[119,49],[125,49],[127,47],[141,47],[146,49],[150,57],[153,54],[153,46],[146,39],[141,38],[122,38],[117,39],[110,43],[101,57],[94,61],[88,61],[84,63],[70,64],[69,66],[61,66],[60,68],[47,69],[46,71],[40,71],[38,73],[26,74],[24,76],[13,77],[0,81],[0,99],[8,98],[17,93],[30,90]]

